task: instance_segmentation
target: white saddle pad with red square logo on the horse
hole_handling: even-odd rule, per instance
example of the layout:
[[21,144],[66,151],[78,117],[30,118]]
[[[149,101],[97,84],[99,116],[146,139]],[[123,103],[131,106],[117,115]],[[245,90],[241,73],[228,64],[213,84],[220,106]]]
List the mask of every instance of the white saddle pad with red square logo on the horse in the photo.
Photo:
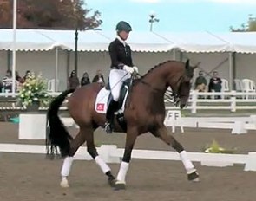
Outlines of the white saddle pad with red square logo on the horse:
[[110,91],[107,90],[106,88],[102,88],[97,94],[97,97],[95,100],[95,111],[97,113],[107,113],[109,94],[110,94]]

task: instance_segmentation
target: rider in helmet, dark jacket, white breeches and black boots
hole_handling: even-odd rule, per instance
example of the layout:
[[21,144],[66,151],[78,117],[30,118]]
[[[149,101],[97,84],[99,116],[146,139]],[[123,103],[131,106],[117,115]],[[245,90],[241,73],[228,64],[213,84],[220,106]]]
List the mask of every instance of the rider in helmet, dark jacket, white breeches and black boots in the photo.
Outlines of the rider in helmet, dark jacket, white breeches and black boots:
[[113,131],[114,112],[118,107],[118,99],[123,81],[130,78],[134,72],[138,73],[138,68],[134,66],[132,61],[130,46],[126,42],[131,30],[132,28],[127,22],[121,21],[117,23],[117,36],[108,46],[111,58],[109,84],[112,100],[110,100],[106,113],[105,131],[107,133],[112,133]]

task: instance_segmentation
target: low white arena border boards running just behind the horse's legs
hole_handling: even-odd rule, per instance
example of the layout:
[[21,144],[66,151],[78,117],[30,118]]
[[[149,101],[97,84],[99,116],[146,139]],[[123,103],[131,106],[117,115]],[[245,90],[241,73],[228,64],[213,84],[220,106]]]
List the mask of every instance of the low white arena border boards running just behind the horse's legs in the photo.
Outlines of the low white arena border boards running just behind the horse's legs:
[[[124,149],[117,148],[115,145],[102,145],[97,147],[97,151],[107,163],[120,163]],[[45,146],[39,145],[0,144],[0,152],[45,154],[46,150]],[[256,171],[256,152],[248,154],[188,152],[187,154],[189,159],[200,162],[200,165],[225,167],[240,164],[245,165],[244,171]],[[82,146],[76,152],[75,159],[91,160],[92,158],[89,156],[86,146]],[[178,152],[138,149],[133,150],[132,159],[181,160]]]

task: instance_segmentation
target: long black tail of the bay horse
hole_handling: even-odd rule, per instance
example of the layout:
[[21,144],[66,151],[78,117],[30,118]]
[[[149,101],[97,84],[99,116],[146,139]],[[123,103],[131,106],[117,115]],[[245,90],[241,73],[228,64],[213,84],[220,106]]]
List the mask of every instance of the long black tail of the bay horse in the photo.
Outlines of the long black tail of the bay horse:
[[59,108],[62,106],[63,101],[66,99],[68,94],[71,94],[75,91],[75,89],[70,88],[59,96],[56,97],[55,100],[49,105],[49,110],[47,112],[47,125],[46,125],[46,148],[47,155],[51,155],[52,157],[57,152],[57,146],[60,149],[62,157],[66,157],[69,155],[70,144],[69,142],[73,139],[69,134],[67,129],[62,123],[62,120],[58,116]]

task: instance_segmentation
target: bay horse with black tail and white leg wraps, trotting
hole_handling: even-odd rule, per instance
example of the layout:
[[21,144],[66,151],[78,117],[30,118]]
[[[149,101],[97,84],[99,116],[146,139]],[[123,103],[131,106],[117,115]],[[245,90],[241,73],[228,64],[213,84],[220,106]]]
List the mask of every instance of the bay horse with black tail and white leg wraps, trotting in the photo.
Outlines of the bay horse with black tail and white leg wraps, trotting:
[[[86,142],[89,155],[108,177],[108,183],[116,190],[125,189],[126,174],[135,140],[142,133],[148,132],[164,141],[168,146],[172,146],[180,154],[188,180],[199,181],[199,174],[191,160],[188,159],[187,152],[181,143],[174,139],[174,136],[168,134],[167,127],[163,123],[166,112],[164,94],[167,88],[172,88],[174,101],[180,105],[181,109],[186,107],[194,68],[196,66],[191,67],[189,60],[187,62],[162,62],[151,68],[146,75],[133,81],[123,113],[127,125],[126,129],[122,128],[116,119],[114,123],[115,132],[127,133],[123,158],[116,178],[109,166],[98,155],[94,142],[95,130],[99,126],[103,126],[106,121],[105,114],[95,111],[95,99],[102,86],[93,83],[75,90],[68,89],[57,96],[51,102],[47,113],[49,133],[46,146],[49,148],[49,153],[56,152],[55,148],[58,147],[62,158],[64,158],[60,185],[69,187],[68,176],[74,159],[73,156],[77,149]],[[58,117],[59,107],[68,94],[71,94],[68,103],[70,116],[80,127],[75,139],[71,137]]]

